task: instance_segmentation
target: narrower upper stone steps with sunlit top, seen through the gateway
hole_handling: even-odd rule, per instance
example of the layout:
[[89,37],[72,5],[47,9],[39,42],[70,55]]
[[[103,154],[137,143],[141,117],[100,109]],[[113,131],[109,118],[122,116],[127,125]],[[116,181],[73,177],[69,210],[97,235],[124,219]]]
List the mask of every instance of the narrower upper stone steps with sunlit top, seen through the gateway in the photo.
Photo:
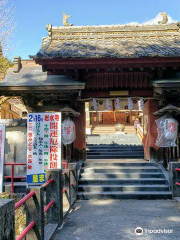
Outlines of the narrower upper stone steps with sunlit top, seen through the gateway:
[[87,137],[87,159],[144,158],[144,149],[135,134]]

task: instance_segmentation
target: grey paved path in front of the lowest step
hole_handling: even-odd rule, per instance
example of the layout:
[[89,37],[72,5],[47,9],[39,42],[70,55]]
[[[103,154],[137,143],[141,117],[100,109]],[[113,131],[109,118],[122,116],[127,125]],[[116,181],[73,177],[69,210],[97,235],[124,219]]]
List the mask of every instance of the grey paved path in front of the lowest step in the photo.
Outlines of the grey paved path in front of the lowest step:
[[[140,236],[137,227],[143,228]],[[169,230],[172,233],[145,233]],[[77,202],[53,240],[178,240],[180,204],[173,200],[93,200]]]

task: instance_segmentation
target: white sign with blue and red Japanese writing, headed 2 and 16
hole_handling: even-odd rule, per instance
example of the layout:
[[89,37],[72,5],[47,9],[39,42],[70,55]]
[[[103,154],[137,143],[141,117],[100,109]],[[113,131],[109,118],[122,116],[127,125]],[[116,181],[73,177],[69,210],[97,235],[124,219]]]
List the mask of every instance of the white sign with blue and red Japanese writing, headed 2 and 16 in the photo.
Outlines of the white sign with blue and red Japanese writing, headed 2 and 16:
[[45,182],[45,171],[61,168],[61,113],[27,117],[27,183]]

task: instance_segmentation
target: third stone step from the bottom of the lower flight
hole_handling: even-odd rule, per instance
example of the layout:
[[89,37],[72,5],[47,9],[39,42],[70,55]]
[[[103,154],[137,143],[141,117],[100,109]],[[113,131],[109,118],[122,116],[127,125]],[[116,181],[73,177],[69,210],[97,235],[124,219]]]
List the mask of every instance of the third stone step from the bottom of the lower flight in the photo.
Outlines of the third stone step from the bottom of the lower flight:
[[128,185],[128,184],[148,184],[148,185],[156,185],[156,184],[166,184],[166,180],[163,178],[96,178],[96,179],[79,179],[79,185]]

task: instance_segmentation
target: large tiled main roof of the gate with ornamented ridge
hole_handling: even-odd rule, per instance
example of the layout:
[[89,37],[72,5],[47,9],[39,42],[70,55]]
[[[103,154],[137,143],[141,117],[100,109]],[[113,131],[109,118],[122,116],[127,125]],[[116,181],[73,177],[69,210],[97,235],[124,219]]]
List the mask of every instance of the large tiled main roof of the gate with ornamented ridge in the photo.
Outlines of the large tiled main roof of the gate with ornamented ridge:
[[52,27],[34,59],[180,57],[177,24]]

